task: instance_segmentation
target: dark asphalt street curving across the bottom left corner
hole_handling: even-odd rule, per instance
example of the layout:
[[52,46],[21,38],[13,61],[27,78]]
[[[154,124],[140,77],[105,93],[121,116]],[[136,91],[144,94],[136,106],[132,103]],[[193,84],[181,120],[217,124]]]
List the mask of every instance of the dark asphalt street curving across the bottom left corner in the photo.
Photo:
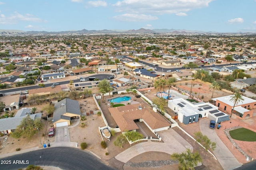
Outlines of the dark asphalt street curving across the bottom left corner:
[[[3,161],[5,160],[5,161]],[[6,164],[6,160],[8,160]],[[14,164],[13,161],[24,161]],[[26,162],[28,161],[28,162]],[[114,170],[89,152],[70,147],[50,147],[0,159],[1,170],[17,170],[29,164],[56,166],[62,170]],[[28,163],[28,164],[26,164]]]

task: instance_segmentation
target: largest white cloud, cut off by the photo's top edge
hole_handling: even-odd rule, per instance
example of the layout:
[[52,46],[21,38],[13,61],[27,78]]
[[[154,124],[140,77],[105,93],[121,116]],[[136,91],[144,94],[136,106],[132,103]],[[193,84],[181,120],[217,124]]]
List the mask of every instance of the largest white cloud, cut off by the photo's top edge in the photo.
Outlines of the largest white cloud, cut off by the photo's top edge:
[[132,14],[176,14],[204,8],[213,0],[121,0],[113,4],[118,12]]

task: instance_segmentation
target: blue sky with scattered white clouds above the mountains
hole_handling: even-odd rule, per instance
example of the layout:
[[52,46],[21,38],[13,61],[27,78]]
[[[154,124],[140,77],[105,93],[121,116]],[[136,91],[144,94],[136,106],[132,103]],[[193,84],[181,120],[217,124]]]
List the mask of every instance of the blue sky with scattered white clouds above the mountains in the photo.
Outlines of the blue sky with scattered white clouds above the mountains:
[[256,32],[256,0],[0,0],[0,29]]

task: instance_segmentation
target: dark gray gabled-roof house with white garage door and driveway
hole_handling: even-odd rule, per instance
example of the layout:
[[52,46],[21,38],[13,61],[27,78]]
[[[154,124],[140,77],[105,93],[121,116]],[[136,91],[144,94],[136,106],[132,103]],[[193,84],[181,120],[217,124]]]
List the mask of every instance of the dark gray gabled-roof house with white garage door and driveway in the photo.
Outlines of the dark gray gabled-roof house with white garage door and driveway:
[[70,125],[70,120],[81,119],[81,111],[78,101],[69,98],[63,99],[54,105],[53,126],[62,127]]

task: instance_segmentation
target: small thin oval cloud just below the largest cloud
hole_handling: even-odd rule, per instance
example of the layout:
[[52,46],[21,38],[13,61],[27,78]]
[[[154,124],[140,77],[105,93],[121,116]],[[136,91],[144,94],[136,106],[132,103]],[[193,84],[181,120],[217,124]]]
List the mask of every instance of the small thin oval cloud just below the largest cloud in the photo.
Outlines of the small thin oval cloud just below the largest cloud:
[[150,20],[157,20],[158,18],[151,15],[143,15],[143,14],[122,14],[118,16],[114,16],[115,19],[120,21],[150,21]]

